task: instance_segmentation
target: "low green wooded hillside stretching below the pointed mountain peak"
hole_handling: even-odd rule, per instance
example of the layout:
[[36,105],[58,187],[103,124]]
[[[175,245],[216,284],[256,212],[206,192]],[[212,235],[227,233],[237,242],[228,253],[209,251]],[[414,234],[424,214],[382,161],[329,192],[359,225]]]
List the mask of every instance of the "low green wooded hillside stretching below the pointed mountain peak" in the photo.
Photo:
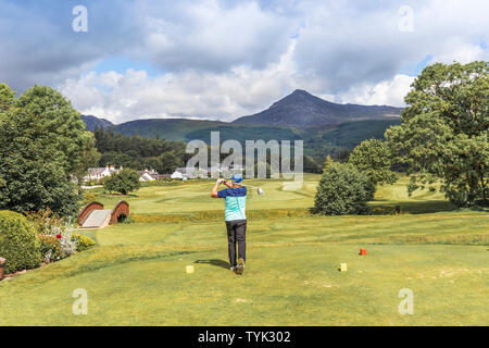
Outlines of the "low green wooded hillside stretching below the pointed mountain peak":
[[366,120],[346,122],[333,127],[311,127],[305,129],[292,127],[273,127],[261,125],[234,124],[197,120],[138,120],[112,127],[123,135],[166,140],[189,141],[200,139],[211,144],[211,132],[220,132],[220,140],[236,139],[244,146],[246,140],[304,140],[304,153],[319,162],[326,153],[352,150],[365,139],[384,138],[386,129],[400,124],[394,120]]

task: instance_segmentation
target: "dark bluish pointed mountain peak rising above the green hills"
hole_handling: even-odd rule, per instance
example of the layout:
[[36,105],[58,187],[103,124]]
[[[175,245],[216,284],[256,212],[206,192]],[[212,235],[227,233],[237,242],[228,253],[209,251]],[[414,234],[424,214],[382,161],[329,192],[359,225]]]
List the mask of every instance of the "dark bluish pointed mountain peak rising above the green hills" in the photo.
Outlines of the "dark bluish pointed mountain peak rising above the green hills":
[[402,108],[338,104],[297,89],[267,110],[235,120],[235,124],[262,124],[291,127],[324,127],[362,120],[398,119]]

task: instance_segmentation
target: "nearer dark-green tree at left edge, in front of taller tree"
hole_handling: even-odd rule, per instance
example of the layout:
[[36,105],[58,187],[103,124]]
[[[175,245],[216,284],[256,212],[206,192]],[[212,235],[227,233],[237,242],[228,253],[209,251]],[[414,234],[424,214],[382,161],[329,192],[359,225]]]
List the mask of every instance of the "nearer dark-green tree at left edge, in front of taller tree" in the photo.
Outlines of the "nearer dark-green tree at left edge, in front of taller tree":
[[20,213],[51,208],[59,216],[78,211],[76,185],[62,165],[62,151],[37,115],[10,110],[0,119],[0,209]]

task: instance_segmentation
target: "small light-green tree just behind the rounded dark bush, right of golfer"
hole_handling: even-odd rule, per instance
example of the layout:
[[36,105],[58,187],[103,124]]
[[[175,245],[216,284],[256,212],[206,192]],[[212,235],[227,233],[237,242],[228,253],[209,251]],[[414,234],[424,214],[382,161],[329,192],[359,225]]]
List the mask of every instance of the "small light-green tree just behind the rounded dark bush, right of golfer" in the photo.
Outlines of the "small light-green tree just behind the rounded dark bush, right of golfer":
[[349,163],[364,173],[374,186],[393,184],[397,176],[391,172],[392,154],[386,141],[369,139],[362,141],[350,153]]

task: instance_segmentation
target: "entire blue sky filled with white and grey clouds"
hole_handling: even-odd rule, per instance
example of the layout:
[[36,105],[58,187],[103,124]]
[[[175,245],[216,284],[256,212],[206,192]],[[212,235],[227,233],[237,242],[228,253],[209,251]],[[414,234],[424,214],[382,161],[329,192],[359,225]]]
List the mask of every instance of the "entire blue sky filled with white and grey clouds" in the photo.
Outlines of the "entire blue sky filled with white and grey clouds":
[[489,61],[487,0],[0,5],[0,83],[17,92],[52,86],[80,113],[114,123],[233,121],[294,89],[403,107],[426,65]]

